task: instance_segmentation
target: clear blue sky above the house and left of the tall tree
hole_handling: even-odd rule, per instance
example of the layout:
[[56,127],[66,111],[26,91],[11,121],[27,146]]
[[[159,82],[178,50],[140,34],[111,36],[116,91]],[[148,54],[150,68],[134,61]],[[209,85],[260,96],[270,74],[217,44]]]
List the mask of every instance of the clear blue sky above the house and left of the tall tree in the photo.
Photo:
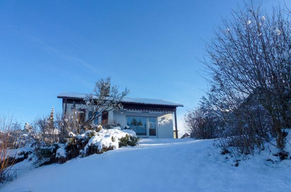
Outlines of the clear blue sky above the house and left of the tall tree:
[[96,80],[111,76],[129,97],[184,104],[181,127],[207,88],[198,74],[203,40],[238,4],[0,1],[0,114],[30,122],[52,106],[61,111],[59,92],[89,93]]

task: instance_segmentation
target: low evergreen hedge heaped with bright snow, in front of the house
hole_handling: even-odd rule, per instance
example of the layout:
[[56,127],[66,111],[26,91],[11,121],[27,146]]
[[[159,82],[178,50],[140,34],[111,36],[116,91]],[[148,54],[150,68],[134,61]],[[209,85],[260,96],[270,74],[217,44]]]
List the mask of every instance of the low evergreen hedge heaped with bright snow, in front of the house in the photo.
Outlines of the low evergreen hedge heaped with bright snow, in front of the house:
[[120,127],[101,128],[99,132],[87,130],[84,134],[70,133],[69,136],[65,144],[55,143],[39,147],[36,155],[41,162],[40,165],[63,163],[78,156],[101,154],[123,146],[135,146],[139,140],[134,131]]

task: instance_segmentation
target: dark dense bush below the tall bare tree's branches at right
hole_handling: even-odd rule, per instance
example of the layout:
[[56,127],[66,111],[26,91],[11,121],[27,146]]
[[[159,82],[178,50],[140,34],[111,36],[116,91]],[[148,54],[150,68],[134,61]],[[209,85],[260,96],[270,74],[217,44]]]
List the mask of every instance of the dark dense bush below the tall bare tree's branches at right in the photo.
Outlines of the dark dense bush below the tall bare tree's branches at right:
[[215,140],[222,151],[228,148],[235,154],[252,154],[255,149],[264,150],[264,143],[275,136],[269,114],[261,105],[250,99],[237,110],[226,112],[224,116],[224,131],[221,132],[220,138]]

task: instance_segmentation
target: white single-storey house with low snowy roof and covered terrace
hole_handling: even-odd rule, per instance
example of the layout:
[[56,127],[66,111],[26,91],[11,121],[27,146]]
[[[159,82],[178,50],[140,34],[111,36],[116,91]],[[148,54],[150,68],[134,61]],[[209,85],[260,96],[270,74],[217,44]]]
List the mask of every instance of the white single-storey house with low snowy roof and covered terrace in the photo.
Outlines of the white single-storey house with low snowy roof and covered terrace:
[[[63,114],[79,110],[82,113],[80,121],[84,121],[92,112],[85,110],[84,98],[86,94],[60,93],[57,98],[62,99]],[[124,98],[121,101],[123,109],[111,110],[94,121],[94,124],[104,125],[117,123],[122,127],[128,126],[139,137],[173,138],[177,131],[176,108],[182,104],[157,99]],[[178,137],[176,137],[178,138]]]

